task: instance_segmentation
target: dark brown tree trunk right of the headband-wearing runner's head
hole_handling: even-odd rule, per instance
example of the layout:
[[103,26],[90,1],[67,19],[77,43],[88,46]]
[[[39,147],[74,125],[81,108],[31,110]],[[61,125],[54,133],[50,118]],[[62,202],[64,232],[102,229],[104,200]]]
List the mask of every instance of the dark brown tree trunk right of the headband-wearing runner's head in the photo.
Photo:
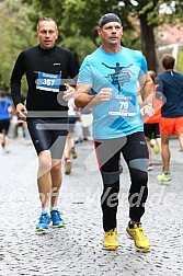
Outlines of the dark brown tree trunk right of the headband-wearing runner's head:
[[153,26],[148,25],[147,14],[140,14],[141,49],[148,62],[148,70],[157,72]]

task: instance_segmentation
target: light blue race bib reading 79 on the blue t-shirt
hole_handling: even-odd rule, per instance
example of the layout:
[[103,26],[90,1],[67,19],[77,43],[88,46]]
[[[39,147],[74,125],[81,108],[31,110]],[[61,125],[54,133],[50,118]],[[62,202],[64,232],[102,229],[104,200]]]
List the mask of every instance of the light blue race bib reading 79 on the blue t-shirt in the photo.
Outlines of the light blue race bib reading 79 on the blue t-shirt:
[[113,95],[110,100],[111,115],[135,116],[136,96],[135,95]]

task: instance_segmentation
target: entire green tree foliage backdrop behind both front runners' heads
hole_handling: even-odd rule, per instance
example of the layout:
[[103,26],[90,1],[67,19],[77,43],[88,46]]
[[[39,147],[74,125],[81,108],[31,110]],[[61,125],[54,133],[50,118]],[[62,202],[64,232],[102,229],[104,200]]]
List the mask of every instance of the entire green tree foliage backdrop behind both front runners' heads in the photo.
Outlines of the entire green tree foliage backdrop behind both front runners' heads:
[[[160,14],[160,8],[165,4],[172,12]],[[37,43],[35,32],[41,18],[49,16],[57,22],[58,44],[72,50],[81,62],[100,45],[96,33],[100,16],[114,12],[123,20],[124,46],[142,50],[149,68],[156,70],[155,27],[164,21],[173,24],[175,19],[182,20],[183,1],[0,0],[0,88],[9,90],[11,71],[19,53]]]

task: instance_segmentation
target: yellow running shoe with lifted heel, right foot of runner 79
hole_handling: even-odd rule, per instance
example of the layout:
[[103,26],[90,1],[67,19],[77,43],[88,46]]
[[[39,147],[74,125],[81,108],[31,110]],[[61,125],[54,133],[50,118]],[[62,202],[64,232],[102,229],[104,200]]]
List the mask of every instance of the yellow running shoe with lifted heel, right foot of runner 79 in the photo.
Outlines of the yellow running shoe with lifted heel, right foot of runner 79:
[[135,246],[138,251],[149,251],[150,250],[150,243],[145,235],[144,229],[141,228],[141,225],[134,225],[134,228],[129,228],[129,223],[126,229],[129,238],[131,238],[135,242]]

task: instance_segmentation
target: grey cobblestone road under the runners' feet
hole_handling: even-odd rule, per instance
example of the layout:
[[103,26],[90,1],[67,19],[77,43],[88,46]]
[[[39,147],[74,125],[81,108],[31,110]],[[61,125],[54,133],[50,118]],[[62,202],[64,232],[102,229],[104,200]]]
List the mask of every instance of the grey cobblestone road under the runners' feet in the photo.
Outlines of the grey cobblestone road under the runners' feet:
[[66,228],[37,234],[39,216],[35,151],[30,140],[12,140],[11,152],[0,149],[0,276],[181,276],[183,260],[183,154],[171,140],[172,182],[159,184],[160,156],[153,156],[149,199],[142,218],[152,250],[139,253],[125,234],[128,222],[126,165],[121,175],[118,208],[119,249],[102,250],[101,176],[91,153],[92,142],[77,147],[71,175],[64,176],[59,205]]

